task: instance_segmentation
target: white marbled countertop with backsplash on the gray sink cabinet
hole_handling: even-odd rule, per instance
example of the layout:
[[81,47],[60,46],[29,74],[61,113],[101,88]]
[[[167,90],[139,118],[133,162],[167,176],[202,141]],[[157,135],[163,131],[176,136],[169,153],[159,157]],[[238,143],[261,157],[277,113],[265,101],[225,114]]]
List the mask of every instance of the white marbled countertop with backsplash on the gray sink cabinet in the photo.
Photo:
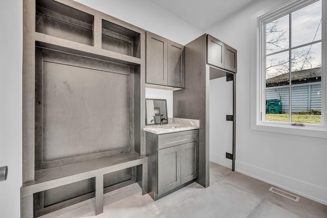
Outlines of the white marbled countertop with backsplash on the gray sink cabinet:
[[198,119],[184,119],[184,118],[168,118],[168,124],[162,126],[158,125],[149,125],[146,126],[143,130],[151,132],[157,135],[172,133],[172,132],[181,132],[187,130],[195,130],[200,128],[200,120]]

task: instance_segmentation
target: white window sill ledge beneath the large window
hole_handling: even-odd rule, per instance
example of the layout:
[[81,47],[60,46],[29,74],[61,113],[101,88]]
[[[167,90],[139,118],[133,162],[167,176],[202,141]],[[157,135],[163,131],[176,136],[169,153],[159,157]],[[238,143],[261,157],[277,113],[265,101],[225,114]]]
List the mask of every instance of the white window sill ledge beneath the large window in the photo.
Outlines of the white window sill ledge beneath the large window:
[[323,127],[294,127],[291,125],[278,125],[278,124],[252,124],[251,130],[282,133],[290,135],[309,136],[316,138],[327,138],[327,129]]

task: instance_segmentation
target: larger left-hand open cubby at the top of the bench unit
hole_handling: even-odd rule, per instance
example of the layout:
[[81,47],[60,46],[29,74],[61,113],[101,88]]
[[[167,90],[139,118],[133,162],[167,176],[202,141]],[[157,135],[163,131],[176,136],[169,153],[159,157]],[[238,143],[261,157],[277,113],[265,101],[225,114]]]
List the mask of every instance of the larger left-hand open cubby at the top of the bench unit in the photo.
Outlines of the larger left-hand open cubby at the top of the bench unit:
[[36,0],[36,32],[93,45],[93,23],[93,15],[52,0]]

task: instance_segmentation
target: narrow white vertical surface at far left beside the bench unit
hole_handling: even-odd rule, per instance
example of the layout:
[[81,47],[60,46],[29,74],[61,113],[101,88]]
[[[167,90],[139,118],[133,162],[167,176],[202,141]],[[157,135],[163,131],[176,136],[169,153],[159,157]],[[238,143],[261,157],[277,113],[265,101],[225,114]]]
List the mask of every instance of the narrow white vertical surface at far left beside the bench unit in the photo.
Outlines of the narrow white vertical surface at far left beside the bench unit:
[[19,217],[21,186],[22,1],[1,1],[0,13],[0,216]]

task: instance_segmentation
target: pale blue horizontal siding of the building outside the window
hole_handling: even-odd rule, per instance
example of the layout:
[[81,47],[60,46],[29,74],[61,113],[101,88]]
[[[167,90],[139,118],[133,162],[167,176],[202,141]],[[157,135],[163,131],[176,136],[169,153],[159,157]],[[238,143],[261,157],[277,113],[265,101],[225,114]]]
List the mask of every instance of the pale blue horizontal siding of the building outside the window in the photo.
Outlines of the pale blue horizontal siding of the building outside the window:
[[[266,100],[282,97],[281,113],[289,112],[289,88],[266,90]],[[292,112],[321,110],[321,84],[292,87]]]

